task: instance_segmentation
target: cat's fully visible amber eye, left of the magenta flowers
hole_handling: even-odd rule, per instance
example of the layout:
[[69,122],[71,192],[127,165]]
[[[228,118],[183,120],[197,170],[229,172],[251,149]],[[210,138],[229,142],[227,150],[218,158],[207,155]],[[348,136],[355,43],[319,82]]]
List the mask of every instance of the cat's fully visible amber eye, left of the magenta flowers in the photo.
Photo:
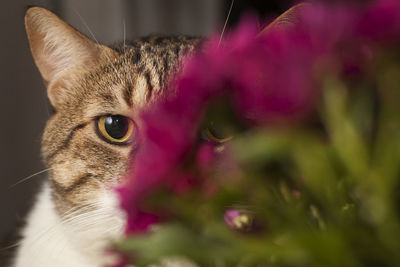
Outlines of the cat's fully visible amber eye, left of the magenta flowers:
[[121,115],[105,115],[97,119],[99,134],[113,144],[129,143],[134,127],[132,120]]

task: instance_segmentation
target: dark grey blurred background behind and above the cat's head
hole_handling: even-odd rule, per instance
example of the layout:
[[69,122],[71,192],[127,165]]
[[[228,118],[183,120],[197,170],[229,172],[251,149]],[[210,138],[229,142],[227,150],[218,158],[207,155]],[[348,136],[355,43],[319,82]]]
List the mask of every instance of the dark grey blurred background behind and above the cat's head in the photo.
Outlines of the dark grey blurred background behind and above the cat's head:
[[[235,0],[229,25],[252,10],[271,18],[289,0]],[[29,5],[46,7],[68,23],[105,44],[150,33],[205,36],[221,29],[230,0],[2,0],[0,9],[0,240],[23,223],[46,173],[40,139],[49,116],[45,87],[30,55],[23,17]],[[16,184],[18,183],[18,184]],[[16,185],[15,185],[16,184]],[[3,249],[3,248],[0,248]]]

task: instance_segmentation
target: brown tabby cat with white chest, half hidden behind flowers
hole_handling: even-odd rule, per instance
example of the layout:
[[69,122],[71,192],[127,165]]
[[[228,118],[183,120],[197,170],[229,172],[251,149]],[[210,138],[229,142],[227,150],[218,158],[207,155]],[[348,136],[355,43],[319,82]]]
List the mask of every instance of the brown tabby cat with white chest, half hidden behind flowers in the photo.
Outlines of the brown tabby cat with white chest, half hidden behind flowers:
[[[294,11],[262,34],[288,24]],[[26,11],[25,26],[54,114],[42,138],[48,179],[11,266],[112,264],[107,248],[125,225],[114,188],[138,148],[138,114],[165,96],[162,89],[203,39],[155,35],[108,47],[40,7]]]

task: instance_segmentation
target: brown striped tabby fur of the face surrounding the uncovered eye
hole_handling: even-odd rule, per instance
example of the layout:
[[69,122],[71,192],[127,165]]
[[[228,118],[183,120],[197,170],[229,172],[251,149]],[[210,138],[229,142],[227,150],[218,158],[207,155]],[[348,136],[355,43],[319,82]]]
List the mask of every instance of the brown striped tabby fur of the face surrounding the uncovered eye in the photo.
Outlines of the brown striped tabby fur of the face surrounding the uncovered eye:
[[169,74],[196,41],[153,36],[119,45],[112,62],[105,60],[69,81],[74,91],[50,118],[42,150],[46,164],[54,167],[50,177],[60,210],[88,200],[99,186],[115,185],[135,149],[135,144],[121,147],[100,139],[94,131],[95,118],[121,114],[137,120],[142,108],[163,95]]

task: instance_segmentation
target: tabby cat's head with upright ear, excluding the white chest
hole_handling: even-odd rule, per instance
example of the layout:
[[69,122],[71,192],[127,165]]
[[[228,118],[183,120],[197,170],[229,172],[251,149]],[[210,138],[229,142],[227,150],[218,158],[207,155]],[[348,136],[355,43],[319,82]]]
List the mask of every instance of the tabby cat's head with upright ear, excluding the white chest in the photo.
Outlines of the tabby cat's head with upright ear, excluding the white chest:
[[137,114],[162,95],[198,39],[155,36],[111,49],[37,7],[27,11],[25,24],[55,110],[42,155],[57,211],[103,209],[137,149]]

